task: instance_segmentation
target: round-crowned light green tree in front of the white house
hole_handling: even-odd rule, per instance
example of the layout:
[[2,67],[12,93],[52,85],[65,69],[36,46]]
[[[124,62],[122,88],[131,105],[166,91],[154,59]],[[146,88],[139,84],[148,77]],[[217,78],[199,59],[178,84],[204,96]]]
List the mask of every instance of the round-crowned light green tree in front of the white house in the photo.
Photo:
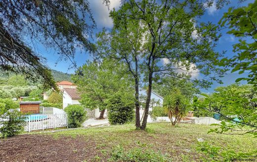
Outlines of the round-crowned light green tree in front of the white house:
[[131,79],[122,71],[123,64],[104,59],[100,63],[88,61],[72,75],[81,93],[81,104],[90,109],[99,108],[99,119],[104,118],[108,99],[112,95],[119,90],[131,92]]

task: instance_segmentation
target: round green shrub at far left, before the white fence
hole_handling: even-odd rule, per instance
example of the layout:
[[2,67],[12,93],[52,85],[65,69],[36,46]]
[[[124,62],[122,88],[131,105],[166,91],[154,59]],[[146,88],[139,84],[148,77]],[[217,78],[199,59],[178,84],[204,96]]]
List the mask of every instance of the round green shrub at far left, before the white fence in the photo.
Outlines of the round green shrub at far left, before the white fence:
[[0,136],[12,137],[24,130],[26,116],[16,109],[8,109],[0,115]]

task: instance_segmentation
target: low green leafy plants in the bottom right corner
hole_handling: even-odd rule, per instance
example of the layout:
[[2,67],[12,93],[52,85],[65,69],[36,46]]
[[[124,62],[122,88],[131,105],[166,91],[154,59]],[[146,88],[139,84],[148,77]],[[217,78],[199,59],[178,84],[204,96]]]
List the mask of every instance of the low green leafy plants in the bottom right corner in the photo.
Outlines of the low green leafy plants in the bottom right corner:
[[257,156],[257,151],[252,151],[249,153],[235,152],[230,149],[227,150],[221,147],[213,146],[208,142],[198,142],[196,149],[208,156],[208,158],[202,158],[203,162],[234,162],[244,160],[251,161]]

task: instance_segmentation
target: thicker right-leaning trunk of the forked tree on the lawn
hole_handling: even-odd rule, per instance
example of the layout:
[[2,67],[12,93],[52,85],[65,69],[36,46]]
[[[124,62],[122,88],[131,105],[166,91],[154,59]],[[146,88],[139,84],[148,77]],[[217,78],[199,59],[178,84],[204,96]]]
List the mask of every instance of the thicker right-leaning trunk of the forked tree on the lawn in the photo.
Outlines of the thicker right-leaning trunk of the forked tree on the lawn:
[[148,78],[148,90],[147,90],[147,95],[146,95],[145,111],[144,111],[143,122],[141,125],[142,130],[145,130],[145,128],[146,128],[147,117],[149,114],[149,106],[150,106],[151,94],[152,94],[152,79],[153,79],[153,73],[150,71],[149,78]]

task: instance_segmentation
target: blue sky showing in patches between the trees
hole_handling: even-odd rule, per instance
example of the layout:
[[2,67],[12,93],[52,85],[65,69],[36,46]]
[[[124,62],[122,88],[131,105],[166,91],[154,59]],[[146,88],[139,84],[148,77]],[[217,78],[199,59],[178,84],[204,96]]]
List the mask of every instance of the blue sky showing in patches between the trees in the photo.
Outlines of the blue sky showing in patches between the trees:
[[[120,0],[110,0],[110,1],[111,1],[110,8],[114,8],[114,7],[116,9],[119,8]],[[231,0],[231,1],[232,1],[231,4],[229,4],[228,6],[225,6],[224,8],[222,8],[220,10],[216,10],[214,5],[212,7],[206,8],[206,13],[204,16],[202,16],[201,21],[204,21],[204,22],[211,21],[212,23],[217,24],[217,22],[222,17],[223,13],[227,11],[228,7],[244,6],[250,2],[253,2],[254,0],[247,0],[244,3],[239,3],[239,4],[237,3],[237,0]],[[89,2],[91,5],[91,11],[92,11],[93,17],[94,17],[94,19],[96,21],[96,25],[97,25],[97,29],[94,30],[93,35],[95,35],[95,33],[99,32],[103,27],[106,27],[107,29],[111,29],[112,28],[112,20],[109,17],[109,10],[105,6],[105,4],[102,3],[102,0],[89,0]],[[233,55],[232,45],[237,43],[238,40],[234,36],[226,34],[226,30],[222,30],[221,34],[222,34],[222,37],[217,42],[217,47],[215,50],[217,52],[227,51],[225,56],[232,56]],[[37,49],[40,54],[42,54],[44,57],[46,57],[46,59],[47,59],[46,64],[51,69],[55,69],[55,70],[62,71],[65,73],[66,72],[68,72],[68,73],[74,72],[75,69],[69,69],[69,65],[71,64],[71,62],[69,62],[69,61],[62,60],[62,61],[59,61],[57,64],[55,64],[59,55],[56,54],[53,49],[45,48],[40,44],[38,45]],[[84,51],[81,51],[78,48],[76,55],[75,55],[75,61],[76,61],[77,65],[78,66],[83,65],[86,62],[86,60],[88,60],[88,59],[92,59],[92,58],[89,56],[89,54],[87,54]],[[246,75],[246,74],[242,74],[242,75]],[[224,82],[224,84],[220,85],[218,83],[214,83],[210,89],[208,89],[208,90],[202,89],[202,91],[205,93],[213,92],[215,87],[232,84],[232,83],[234,83],[236,78],[242,77],[242,75],[238,75],[237,73],[232,73],[232,74],[229,73],[229,74],[225,75],[225,77],[222,78],[222,81]],[[199,77],[201,77],[200,74],[199,74]]]

